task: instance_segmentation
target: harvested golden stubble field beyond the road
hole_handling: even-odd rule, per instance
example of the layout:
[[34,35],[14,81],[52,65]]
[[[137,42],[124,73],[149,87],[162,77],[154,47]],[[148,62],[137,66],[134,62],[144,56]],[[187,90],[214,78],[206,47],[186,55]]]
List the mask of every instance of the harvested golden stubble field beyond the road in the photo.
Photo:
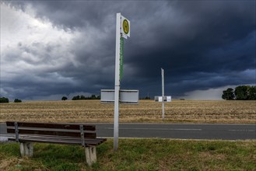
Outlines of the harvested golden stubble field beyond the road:
[[[113,122],[114,104],[99,100],[1,103],[0,122]],[[256,123],[256,101],[173,100],[165,103],[167,123]],[[120,122],[162,122],[162,103],[140,100],[120,105]]]

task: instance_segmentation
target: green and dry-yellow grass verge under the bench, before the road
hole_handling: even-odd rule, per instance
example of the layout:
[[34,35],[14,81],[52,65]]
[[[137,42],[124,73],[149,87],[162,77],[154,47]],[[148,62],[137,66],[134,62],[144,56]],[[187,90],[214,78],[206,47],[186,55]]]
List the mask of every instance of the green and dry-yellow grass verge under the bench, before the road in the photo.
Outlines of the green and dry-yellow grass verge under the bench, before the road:
[[35,144],[22,158],[18,143],[1,143],[0,170],[256,170],[256,141],[120,139],[113,152],[109,139],[92,167],[79,145]]

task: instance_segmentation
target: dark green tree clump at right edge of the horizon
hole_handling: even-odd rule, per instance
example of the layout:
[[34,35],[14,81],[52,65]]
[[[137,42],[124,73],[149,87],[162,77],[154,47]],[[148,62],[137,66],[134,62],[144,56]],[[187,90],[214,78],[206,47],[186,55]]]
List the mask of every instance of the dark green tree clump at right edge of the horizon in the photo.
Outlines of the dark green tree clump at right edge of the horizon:
[[237,86],[223,91],[223,99],[226,100],[256,100],[256,86]]

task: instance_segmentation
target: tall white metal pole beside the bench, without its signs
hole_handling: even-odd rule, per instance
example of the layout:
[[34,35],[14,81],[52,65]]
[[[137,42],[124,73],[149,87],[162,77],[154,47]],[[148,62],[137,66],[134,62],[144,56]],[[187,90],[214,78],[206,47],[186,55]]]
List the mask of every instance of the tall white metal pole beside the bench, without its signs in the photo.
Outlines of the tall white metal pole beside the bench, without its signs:
[[114,81],[114,150],[118,148],[119,130],[119,90],[120,90],[120,33],[121,13],[117,13],[116,25],[116,56],[115,56],[115,81]]

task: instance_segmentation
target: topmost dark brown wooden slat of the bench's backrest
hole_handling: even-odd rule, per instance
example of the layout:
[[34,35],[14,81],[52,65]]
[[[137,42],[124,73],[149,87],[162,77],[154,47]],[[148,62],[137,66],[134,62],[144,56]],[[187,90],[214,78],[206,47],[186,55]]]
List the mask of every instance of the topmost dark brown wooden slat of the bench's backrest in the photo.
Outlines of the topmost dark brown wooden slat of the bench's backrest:
[[[8,127],[14,127],[14,122],[7,121],[6,125]],[[95,131],[95,125],[82,124],[83,130],[85,131]],[[67,129],[67,130],[80,130],[79,124],[48,124],[48,123],[28,123],[28,122],[18,122],[18,127],[47,127],[53,129]]]

